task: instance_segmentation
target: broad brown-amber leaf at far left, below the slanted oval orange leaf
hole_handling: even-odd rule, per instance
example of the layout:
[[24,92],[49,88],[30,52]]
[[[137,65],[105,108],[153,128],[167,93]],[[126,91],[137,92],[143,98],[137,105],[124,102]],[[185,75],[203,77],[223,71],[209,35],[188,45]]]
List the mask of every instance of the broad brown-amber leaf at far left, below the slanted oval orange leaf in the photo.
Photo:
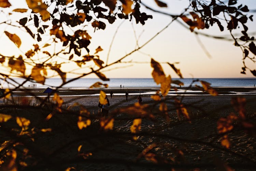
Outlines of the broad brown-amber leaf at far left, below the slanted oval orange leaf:
[[25,74],[26,67],[21,55],[17,59],[11,57],[9,59],[8,65],[11,67],[11,71],[16,70],[17,72],[21,72],[23,75]]

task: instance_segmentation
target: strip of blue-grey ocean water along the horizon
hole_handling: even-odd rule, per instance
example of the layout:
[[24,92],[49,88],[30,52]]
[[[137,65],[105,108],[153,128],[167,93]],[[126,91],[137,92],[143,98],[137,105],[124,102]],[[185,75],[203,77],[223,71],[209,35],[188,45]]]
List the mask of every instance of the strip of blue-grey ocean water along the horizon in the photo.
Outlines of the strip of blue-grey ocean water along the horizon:
[[[199,80],[207,81],[211,83],[211,87],[253,87],[256,84],[256,78],[198,78]],[[2,88],[12,88],[18,86],[18,84],[22,83],[24,79],[22,78],[14,78],[14,81],[7,79],[7,80],[0,80]],[[67,78],[67,81],[71,80],[71,78]],[[184,78],[184,79],[175,79],[173,80],[180,80],[184,83],[184,87],[188,87],[193,80],[192,78]],[[95,82],[102,82],[109,85],[110,88],[119,88],[122,85],[122,88],[149,88],[149,87],[160,87],[157,85],[153,78],[110,78],[110,81],[102,81],[99,78],[80,78],[78,80],[72,81],[68,84],[65,84],[63,87],[65,88],[88,88]],[[26,82],[23,84],[22,87],[33,87],[33,84],[37,84],[37,87],[58,87],[62,83],[61,78],[48,78],[45,81],[45,84],[39,84],[36,82]],[[192,86],[195,85],[201,86],[200,82],[195,82]],[[173,84],[172,86],[175,86]],[[176,85],[177,86],[177,85]]]

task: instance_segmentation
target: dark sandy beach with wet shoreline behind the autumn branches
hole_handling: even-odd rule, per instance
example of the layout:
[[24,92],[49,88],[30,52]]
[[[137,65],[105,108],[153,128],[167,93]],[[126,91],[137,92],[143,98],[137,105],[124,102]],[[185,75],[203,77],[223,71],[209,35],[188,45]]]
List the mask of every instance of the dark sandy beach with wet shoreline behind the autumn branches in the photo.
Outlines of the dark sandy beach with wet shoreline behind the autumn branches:
[[[183,89],[183,88],[182,88]],[[185,89],[185,88],[184,88]],[[32,161],[40,162],[28,167],[32,170],[50,168],[52,170],[74,167],[76,170],[219,170],[228,164],[230,168],[241,170],[255,169],[256,141],[252,134],[246,133],[240,126],[234,126],[227,135],[231,142],[229,149],[221,145],[223,135],[218,134],[217,121],[228,116],[231,112],[237,113],[231,104],[234,97],[246,98],[246,117],[255,123],[254,88],[215,88],[218,96],[211,96],[205,92],[197,92],[197,88],[190,88],[188,92],[172,95],[163,99],[167,104],[166,115],[159,113],[159,104],[151,95],[156,88],[129,88],[129,89],[60,89],[58,94],[63,99],[63,112],[55,114],[46,121],[47,111],[34,112],[28,109],[24,117],[30,119],[31,126],[39,128],[52,127],[47,133],[38,133],[33,136],[34,142],[26,141],[32,147],[32,152],[39,153]],[[104,91],[110,101],[109,115],[113,117],[113,130],[104,130],[99,125],[101,118],[98,114],[99,92]],[[109,91],[114,95],[111,98]],[[125,100],[125,91],[129,92],[128,102]],[[13,99],[22,99],[27,96],[30,103],[40,103],[40,100],[30,97],[31,94],[47,99],[47,94],[40,93],[42,89],[17,89],[13,92]],[[148,113],[143,116],[141,129],[137,140],[130,134],[133,120],[137,114],[117,112],[138,103],[137,97],[141,92],[142,105],[147,106]],[[171,91],[173,92],[173,91]],[[234,93],[236,92],[236,93]],[[244,93],[241,95],[241,93]],[[50,102],[52,101],[50,96]],[[178,117],[174,105],[174,98],[186,104],[190,119]],[[47,100],[46,100],[47,102]],[[77,128],[77,117],[81,107],[69,107],[74,103],[83,105],[91,116],[91,124],[82,130]],[[152,110],[151,108],[152,107]],[[68,110],[66,110],[68,109]],[[7,109],[2,108],[2,112]],[[154,117],[153,117],[154,116]],[[77,147],[81,151],[77,152]],[[147,149],[146,154],[145,149]],[[143,153],[144,151],[144,153]],[[31,152],[31,153],[32,153]],[[142,155],[143,154],[143,155]],[[27,160],[26,160],[27,161]],[[27,161],[29,164],[33,163]],[[51,163],[49,166],[47,163]]]

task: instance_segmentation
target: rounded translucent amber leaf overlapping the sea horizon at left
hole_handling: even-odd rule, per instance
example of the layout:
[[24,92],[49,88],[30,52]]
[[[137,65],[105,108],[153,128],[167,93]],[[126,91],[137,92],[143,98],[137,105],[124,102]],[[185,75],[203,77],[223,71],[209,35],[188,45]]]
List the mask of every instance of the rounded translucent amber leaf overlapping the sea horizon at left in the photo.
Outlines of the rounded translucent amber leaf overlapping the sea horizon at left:
[[38,83],[44,84],[46,75],[47,72],[43,65],[37,64],[32,68],[31,77]]

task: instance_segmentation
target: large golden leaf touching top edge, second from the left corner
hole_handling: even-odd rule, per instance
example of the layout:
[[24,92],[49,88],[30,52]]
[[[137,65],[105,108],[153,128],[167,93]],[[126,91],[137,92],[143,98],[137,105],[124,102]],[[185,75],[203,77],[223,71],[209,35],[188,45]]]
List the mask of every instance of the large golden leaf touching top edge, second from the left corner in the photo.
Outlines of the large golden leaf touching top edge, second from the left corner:
[[35,13],[40,13],[43,21],[50,19],[50,13],[46,10],[48,6],[42,0],[26,0],[28,7]]

